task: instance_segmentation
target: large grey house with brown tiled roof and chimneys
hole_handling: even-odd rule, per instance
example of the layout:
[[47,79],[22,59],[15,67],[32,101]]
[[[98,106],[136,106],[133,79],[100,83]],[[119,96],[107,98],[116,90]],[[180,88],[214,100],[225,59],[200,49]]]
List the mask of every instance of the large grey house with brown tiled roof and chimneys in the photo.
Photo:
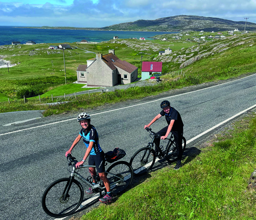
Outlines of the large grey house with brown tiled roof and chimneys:
[[114,86],[128,84],[138,78],[138,67],[122,61],[115,55],[115,50],[108,54],[96,54],[96,58],[87,60],[87,65],[77,68],[78,82],[87,86]]

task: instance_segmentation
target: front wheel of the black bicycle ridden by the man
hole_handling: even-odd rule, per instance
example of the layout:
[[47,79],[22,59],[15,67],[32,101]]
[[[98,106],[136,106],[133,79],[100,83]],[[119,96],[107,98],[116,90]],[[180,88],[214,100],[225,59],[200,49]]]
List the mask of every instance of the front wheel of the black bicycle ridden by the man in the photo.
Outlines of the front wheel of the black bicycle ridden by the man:
[[[148,160],[145,157],[149,154]],[[156,153],[151,147],[143,147],[136,151],[130,159],[130,165],[133,168],[135,176],[142,176],[146,174],[154,165],[156,161]]]

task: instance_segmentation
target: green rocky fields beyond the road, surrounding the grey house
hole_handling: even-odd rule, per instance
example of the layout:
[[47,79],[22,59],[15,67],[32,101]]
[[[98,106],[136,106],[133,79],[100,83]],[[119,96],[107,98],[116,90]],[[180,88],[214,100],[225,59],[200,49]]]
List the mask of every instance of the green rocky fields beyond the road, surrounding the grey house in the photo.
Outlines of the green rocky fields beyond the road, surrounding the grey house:
[[[212,33],[189,32],[190,39],[185,34],[187,32],[183,33],[181,39],[173,38],[177,34],[165,34],[159,39],[146,41],[117,39],[98,44],[71,43],[77,49],[65,50],[67,84],[72,84],[77,80],[76,69],[79,64],[86,64],[87,59],[95,57],[94,53],[107,54],[109,49],[115,49],[115,54],[120,59],[138,67],[139,74],[141,73],[141,61],[163,62],[162,82],[155,87],[135,87],[127,91],[109,92],[104,94],[104,99],[99,98],[98,94],[91,95],[90,98],[88,95],[81,95],[76,102],[48,109],[44,113],[45,116],[65,111],[79,111],[84,108],[83,106],[93,108],[104,105],[104,103],[138,99],[174,88],[224,80],[255,72],[255,33],[228,36],[225,32],[223,33],[225,38],[207,39],[200,43],[191,39],[200,38],[201,35],[209,36]],[[161,40],[163,37],[167,40]],[[35,99],[33,102],[28,99],[28,102],[24,103],[24,95],[26,98],[38,95],[49,97],[51,94],[53,96],[64,93],[73,94],[81,90],[79,86],[68,87],[66,91],[67,87],[60,87],[65,85],[63,52],[50,50],[48,46],[48,44],[1,46],[1,55],[18,65],[9,68],[10,73],[7,68],[0,68],[0,101],[2,101],[0,112],[39,108],[35,105]],[[166,48],[171,48],[172,54],[159,56],[159,50]],[[84,50],[93,53],[86,53]],[[8,104],[8,98],[14,101]],[[20,99],[22,100],[19,101]],[[44,100],[44,102],[49,101],[51,99]]]

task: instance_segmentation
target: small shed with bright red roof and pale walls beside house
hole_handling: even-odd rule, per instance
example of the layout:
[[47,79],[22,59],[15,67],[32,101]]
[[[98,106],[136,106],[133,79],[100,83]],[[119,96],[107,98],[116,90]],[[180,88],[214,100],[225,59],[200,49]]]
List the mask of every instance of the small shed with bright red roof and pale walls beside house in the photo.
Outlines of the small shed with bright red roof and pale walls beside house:
[[156,73],[162,73],[162,62],[142,62],[141,80],[149,79]]

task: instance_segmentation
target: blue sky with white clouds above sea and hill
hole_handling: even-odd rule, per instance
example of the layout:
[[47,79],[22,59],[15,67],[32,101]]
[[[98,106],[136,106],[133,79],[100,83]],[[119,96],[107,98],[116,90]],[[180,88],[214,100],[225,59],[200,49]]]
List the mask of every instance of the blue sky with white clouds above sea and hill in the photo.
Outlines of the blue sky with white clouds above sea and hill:
[[256,0],[0,0],[0,26],[105,27],[175,15],[256,23]]

